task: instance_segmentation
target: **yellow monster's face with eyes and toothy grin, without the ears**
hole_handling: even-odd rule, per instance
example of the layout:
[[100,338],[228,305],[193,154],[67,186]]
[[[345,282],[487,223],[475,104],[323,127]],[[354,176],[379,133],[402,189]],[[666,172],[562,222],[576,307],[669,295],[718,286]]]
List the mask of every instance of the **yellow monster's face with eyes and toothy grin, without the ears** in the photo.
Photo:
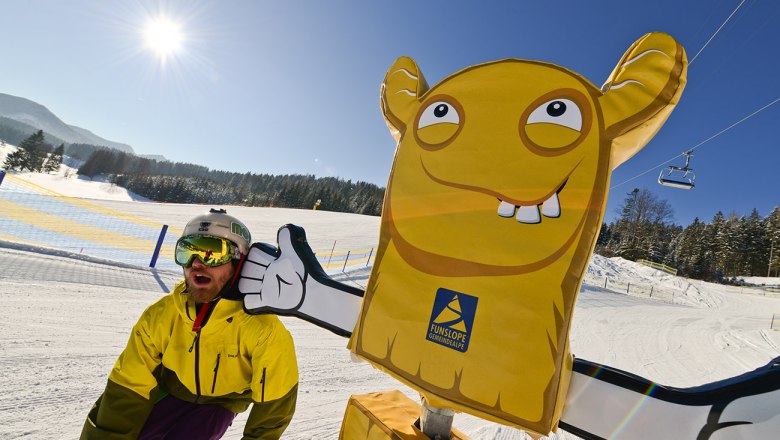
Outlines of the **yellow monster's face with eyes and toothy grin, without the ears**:
[[426,93],[401,138],[385,213],[401,254],[453,275],[519,274],[559,258],[607,174],[598,95],[560,67],[520,60],[470,68]]

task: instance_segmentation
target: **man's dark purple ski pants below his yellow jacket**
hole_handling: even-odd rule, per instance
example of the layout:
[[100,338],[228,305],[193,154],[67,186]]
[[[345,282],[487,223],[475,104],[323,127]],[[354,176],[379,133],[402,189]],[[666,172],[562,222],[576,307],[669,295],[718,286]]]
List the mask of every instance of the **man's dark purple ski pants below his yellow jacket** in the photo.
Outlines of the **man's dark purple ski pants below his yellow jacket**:
[[138,440],[218,440],[235,417],[219,405],[198,405],[168,395],[154,405]]

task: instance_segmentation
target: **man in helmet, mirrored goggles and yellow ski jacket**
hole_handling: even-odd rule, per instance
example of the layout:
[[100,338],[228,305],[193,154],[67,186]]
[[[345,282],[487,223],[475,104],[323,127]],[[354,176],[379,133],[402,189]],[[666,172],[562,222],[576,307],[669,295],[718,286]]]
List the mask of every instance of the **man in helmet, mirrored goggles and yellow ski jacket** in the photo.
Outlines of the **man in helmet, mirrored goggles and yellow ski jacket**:
[[275,315],[248,315],[233,284],[251,243],[225,210],[193,218],[176,243],[184,280],[133,328],[81,439],[219,439],[252,410],[244,439],[278,439],[292,419],[298,365]]

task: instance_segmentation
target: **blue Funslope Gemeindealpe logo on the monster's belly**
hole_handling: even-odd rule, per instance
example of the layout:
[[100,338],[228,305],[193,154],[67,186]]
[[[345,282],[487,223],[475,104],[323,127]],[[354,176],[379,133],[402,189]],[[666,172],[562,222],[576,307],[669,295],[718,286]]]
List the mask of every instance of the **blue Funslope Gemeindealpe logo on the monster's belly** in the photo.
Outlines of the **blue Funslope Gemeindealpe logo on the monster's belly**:
[[477,297],[443,287],[436,291],[425,339],[465,352],[477,314]]

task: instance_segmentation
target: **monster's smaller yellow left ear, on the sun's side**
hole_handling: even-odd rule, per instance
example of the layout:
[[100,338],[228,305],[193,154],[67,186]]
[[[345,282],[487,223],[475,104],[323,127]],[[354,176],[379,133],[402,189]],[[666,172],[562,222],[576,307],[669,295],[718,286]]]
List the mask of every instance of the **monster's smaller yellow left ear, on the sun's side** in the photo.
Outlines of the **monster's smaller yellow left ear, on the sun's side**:
[[414,116],[420,96],[427,90],[428,84],[420,68],[409,57],[398,58],[387,71],[382,82],[382,113],[396,142]]

